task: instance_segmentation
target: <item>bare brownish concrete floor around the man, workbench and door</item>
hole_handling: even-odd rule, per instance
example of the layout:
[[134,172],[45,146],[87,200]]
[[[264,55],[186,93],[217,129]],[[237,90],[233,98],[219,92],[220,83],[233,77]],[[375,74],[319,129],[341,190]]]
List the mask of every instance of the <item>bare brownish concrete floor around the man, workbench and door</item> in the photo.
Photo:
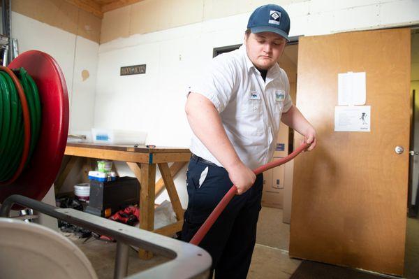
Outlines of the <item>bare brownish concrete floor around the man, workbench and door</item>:
[[[113,278],[116,243],[70,237],[87,255],[100,279]],[[289,224],[282,222],[282,210],[262,208],[258,222],[258,235],[249,269],[249,279],[288,279],[300,265],[300,260],[288,257]],[[419,278],[419,220],[408,219],[406,234],[405,278]],[[149,269],[168,261],[156,255],[151,260],[138,259],[134,250],[130,251],[128,275]]]

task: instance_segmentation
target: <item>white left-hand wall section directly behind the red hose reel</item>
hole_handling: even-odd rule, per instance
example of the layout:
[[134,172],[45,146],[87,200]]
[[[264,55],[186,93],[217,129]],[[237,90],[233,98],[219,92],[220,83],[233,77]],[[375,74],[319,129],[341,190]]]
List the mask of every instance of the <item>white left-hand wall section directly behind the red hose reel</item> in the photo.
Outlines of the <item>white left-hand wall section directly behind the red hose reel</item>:
[[[70,103],[70,130],[91,129],[98,64],[98,43],[12,12],[12,37],[19,52],[41,50],[57,60],[66,79]],[[82,81],[82,71],[89,78]]]

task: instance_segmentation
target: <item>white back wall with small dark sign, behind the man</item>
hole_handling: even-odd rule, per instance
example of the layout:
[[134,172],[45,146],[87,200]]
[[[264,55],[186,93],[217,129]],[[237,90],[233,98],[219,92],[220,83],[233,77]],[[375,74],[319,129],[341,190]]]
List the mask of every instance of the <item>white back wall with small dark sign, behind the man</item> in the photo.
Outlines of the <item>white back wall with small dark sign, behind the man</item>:
[[[309,0],[284,8],[291,17],[291,36],[419,22],[419,1],[411,0]],[[184,115],[188,81],[210,62],[213,48],[242,43],[249,15],[136,34],[100,45],[94,126],[139,129],[147,131],[147,143],[189,147],[191,131]],[[119,76],[120,66],[135,64],[147,64],[147,73]],[[186,206],[184,171],[175,183],[182,206]],[[166,193],[156,202],[163,199]]]

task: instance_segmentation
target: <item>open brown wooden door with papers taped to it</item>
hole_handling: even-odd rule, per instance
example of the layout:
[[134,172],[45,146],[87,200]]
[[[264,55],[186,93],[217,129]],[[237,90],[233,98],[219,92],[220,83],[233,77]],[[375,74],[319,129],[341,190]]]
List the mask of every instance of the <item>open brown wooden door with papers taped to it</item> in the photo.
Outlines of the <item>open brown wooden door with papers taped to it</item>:
[[[300,38],[297,107],[318,147],[295,159],[291,257],[402,275],[410,40],[409,29]],[[371,132],[334,131],[337,74],[348,71],[366,72]]]

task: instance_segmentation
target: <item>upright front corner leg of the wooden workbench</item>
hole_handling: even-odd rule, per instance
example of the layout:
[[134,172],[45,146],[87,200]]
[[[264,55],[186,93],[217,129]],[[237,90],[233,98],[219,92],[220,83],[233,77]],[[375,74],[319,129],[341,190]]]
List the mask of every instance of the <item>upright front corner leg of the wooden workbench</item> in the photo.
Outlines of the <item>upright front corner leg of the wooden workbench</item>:
[[[156,187],[156,164],[141,164],[140,177],[140,229],[154,230],[154,190]],[[152,252],[138,250],[140,259],[151,259]]]

